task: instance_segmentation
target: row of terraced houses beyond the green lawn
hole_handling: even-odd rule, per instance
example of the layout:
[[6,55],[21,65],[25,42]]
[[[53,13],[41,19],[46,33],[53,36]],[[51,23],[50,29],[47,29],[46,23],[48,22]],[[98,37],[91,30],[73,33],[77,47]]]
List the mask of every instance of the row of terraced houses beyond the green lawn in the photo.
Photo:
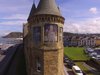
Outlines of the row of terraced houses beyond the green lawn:
[[[67,35],[70,34],[70,35]],[[96,47],[100,46],[100,36],[98,34],[74,34],[67,33],[64,36],[64,46],[88,46]]]

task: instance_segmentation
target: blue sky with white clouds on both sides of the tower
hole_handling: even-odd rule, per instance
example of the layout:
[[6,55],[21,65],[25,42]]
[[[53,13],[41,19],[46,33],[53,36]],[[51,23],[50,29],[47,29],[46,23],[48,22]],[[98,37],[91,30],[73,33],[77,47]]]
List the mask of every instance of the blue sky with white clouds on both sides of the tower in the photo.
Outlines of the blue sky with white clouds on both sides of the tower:
[[[33,1],[0,0],[0,36],[22,32]],[[65,32],[100,33],[100,0],[56,0],[56,3],[65,18]]]

